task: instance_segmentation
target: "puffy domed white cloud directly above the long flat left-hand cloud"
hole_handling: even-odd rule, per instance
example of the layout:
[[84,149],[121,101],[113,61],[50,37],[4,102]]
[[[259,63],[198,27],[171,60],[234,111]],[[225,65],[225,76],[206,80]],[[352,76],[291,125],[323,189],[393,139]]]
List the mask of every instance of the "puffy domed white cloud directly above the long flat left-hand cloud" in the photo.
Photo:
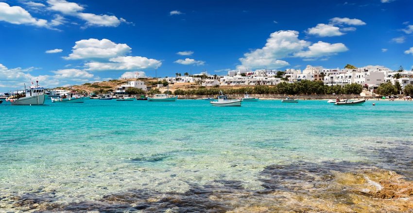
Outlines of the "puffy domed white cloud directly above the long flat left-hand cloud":
[[109,59],[125,55],[131,51],[126,44],[116,44],[108,39],[83,39],[75,42],[72,53],[64,57],[67,60],[73,59]]

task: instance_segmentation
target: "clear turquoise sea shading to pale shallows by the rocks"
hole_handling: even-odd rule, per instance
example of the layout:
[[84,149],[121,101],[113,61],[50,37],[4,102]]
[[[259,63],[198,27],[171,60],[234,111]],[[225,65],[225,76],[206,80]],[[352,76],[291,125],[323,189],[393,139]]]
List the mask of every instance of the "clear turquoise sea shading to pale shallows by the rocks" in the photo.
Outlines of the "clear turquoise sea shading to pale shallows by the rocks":
[[48,101],[0,104],[0,212],[300,212],[339,173],[413,180],[413,102]]

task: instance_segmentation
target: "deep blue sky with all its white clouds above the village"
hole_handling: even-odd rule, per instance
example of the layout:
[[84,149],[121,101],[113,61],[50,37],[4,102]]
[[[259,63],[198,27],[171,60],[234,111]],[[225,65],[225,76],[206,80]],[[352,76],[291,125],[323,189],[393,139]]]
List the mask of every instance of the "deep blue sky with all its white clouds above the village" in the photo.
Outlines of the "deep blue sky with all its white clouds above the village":
[[30,79],[154,77],[155,67],[158,77],[347,63],[410,70],[412,11],[412,0],[0,0],[0,91]]

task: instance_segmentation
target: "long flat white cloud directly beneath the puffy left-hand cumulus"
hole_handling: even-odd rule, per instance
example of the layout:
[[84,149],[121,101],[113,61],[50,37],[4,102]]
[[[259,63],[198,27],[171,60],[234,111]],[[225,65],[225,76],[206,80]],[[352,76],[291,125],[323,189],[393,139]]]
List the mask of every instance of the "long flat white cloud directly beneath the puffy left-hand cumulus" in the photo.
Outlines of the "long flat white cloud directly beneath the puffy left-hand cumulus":
[[161,65],[161,61],[141,56],[119,56],[109,59],[109,62],[88,62],[85,64],[88,67],[86,70],[91,71],[149,69]]

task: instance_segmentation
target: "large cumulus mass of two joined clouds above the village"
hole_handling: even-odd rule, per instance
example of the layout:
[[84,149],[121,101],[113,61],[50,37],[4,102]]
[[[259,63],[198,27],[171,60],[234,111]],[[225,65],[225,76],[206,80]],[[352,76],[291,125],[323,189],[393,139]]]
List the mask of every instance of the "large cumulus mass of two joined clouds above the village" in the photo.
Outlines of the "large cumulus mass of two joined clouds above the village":
[[306,60],[322,60],[326,59],[327,56],[347,51],[342,43],[330,44],[319,41],[311,45],[308,41],[298,39],[298,35],[297,31],[271,33],[263,48],[245,53],[244,57],[239,59],[241,65],[237,66],[237,69],[258,69],[262,67],[276,69],[290,65],[287,61],[281,60],[283,58],[299,57]]

